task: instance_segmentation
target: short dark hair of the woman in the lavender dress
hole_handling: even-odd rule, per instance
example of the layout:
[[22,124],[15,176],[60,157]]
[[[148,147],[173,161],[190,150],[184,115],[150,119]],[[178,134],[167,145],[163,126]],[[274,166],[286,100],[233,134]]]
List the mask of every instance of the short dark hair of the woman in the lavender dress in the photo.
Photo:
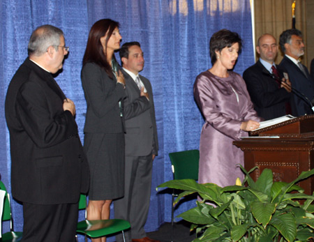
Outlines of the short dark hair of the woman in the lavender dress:
[[242,47],[242,40],[238,33],[227,29],[221,29],[214,33],[209,40],[209,55],[211,56],[211,63],[214,65],[217,61],[216,51],[220,52],[225,47],[231,47],[234,43],[239,44],[239,52]]

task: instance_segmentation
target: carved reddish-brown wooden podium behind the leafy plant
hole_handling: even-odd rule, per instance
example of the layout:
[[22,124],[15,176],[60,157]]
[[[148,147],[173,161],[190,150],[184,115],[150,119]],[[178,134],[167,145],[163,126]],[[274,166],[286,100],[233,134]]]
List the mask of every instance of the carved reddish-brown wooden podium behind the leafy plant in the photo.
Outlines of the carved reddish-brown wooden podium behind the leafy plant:
[[[244,151],[247,171],[258,167],[251,173],[255,181],[265,168],[273,171],[274,181],[293,181],[301,172],[314,168],[314,114],[252,131],[250,137],[233,144]],[[314,177],[298,185],[312,195]]]

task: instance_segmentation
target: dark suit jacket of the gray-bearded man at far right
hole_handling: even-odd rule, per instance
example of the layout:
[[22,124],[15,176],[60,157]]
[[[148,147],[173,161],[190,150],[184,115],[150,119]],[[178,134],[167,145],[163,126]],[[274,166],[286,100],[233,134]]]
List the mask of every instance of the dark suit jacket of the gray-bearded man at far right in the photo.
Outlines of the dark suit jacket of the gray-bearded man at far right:
[[279,66],[289,75],[292,87],[308,98],[308,100],[306,100],[301,94],[294,94],[292,96],[294,107],[296,108],[295,110],[292,109],[292,115],[301,116],[304,114],[313,114],[309,102],[314,98],[314,80],[308,73],[306,66],[303,66],[304,70],[306,70],[306,75],[304,75],[300,68],[287,58],[287,56],[283,57]]

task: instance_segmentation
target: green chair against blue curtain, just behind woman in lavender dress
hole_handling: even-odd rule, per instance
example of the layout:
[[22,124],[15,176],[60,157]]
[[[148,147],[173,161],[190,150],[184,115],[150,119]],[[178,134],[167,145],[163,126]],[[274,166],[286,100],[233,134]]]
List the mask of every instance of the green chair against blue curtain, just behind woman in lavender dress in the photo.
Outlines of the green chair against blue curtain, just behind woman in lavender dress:
[[[172,174],[174,180],[193,179],[198,180],[198,162],[200,160],[200,151],[197,149],[189,151],[179,151],[169,153],[172,164]],[[174,220],[174,197],[178,196],[175,189],[172,190],[172,208],[171,208],[171,242],[173,242],[173,220]]]

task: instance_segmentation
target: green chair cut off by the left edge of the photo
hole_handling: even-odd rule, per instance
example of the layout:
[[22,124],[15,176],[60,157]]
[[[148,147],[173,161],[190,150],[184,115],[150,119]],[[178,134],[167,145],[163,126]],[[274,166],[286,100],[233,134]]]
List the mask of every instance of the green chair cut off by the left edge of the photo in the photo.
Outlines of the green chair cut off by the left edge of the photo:
[[[3,182],[0,181],[0,190],[6,191],[6,186],[4,186]],[[14,232],[13,231],[13,218],[11,213],[11,206],[10,206],[10,195],[6,191],[6,195],[4,197],[4,204],[3,204],[3,214],[2,214],[2,221],[10,220],[10,232],[6,234],[2,234],[2,242],[15,242],[20,241],[22,239],[22,232]]]

